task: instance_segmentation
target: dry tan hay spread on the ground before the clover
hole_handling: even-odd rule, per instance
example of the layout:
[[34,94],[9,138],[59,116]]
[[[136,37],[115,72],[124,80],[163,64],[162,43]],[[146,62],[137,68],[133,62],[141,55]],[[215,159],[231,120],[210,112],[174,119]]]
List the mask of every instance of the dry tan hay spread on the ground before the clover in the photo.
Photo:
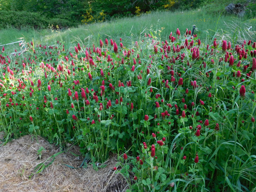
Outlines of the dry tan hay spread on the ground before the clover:
[[[37,150],[44,147],[41,160]],[[79,154],[77,147],[70,149]],[[116,157],[111,157],[105,164],[105,168],[94,171],[92,165],[87,169],[71,169],[66,165],[79,167],[83,157],[77,158],[70,152],[61,153],[54,162],[43,172],[35,174],[35,167],[52,155],[59,152],[58,148],[50,145],[46,140],[31,135],[12,140],[6,145],[0,146],[0,191],[2,192],[98,192],[98,191],[125,191],[127,183],[122,175],[115,174],[113,167],[116,165]]]

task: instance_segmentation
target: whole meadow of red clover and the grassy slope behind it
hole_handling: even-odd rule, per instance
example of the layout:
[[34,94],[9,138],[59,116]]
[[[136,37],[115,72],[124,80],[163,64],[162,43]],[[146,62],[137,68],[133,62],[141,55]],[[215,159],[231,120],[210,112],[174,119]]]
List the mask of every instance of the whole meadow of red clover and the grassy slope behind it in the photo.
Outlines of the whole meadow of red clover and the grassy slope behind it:
[[95,169],[118,154],[127,192],[255,191],[255,30],[200,10],[3,29],[24,37],[0,47],[3,144],[78,145]]

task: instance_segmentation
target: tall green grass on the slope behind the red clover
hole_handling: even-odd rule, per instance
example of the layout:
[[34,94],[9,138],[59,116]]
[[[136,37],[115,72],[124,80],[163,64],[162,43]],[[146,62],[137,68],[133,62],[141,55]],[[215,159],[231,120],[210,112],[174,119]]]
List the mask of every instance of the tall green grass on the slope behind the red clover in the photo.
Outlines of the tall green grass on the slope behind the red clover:
[[70,43],[78,39],[99,42],[100,38],[117,40],[120,37],[123,42],[131,42],[130,39],[137,39],[141,33],[147,33],[150,28],[156,31],[156,35],[159,33],[158,30],[161,30],[161,36],[168,37],[170,32],[175,33],[177,28],[181,32],[185,32],[186,28],[192,30],[192,25],[196,25],[198,30],[195,31],[195,34],[200,34],[201,39],[208,38],[212,40],[217,31],[229,30],[230,25],[233,26],[243,22],[252,22],[251,24],[248,23],[248,25],[252,26],[253,23],[255,24],[255,20],[248,21],[224,14],[220,16],[208,15],[203,9],[184,12],[151,12],[139,17],[82,25],[78,28],[60,31],[51,29],[39,31],[34,29],[2,29],[0,30],[0,44],[15,42],[20,37],[24,37],[26,42],[30,42],[33,39],[36,44],[55,44],[57,40]]

